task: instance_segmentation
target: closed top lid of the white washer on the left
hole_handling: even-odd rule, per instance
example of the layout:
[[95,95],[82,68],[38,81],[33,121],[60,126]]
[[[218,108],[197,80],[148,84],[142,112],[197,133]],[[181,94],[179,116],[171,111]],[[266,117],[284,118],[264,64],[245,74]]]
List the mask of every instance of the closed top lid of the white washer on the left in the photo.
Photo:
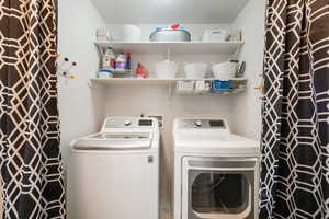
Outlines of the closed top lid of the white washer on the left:
[[141,150],[149,149],[151,132],[100,132],[78,139],[75,150]]

